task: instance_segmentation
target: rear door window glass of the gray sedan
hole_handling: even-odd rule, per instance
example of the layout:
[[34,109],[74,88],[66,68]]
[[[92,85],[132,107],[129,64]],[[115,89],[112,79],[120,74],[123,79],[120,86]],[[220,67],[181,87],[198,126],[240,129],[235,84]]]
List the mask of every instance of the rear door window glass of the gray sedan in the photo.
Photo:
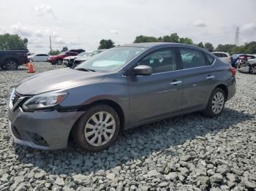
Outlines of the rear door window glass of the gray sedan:
[[208,65],[206,64],[206,58],[203,55],[203,52],[191,48],[180,48],[179,50],[181,52],[181,61],[184,69],[192,69]]

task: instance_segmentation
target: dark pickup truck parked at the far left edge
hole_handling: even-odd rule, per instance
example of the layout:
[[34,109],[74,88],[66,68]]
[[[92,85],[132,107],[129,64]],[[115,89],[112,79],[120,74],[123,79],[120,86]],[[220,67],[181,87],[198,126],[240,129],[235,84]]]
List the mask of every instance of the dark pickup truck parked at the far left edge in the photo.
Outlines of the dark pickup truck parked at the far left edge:
[[16,70],[18,66],[28,62],[27,50],[0,50],[0,68]]

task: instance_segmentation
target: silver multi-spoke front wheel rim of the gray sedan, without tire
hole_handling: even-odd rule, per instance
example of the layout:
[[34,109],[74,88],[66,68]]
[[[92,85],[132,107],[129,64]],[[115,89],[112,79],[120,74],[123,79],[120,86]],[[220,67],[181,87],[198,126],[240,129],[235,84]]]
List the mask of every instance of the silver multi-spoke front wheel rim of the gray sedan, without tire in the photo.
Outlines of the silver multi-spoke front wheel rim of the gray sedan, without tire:
[[84,135],[86,141],[94,147],[107,144],[116,130],[116,121],[109,112],[97,112],[86,122]]

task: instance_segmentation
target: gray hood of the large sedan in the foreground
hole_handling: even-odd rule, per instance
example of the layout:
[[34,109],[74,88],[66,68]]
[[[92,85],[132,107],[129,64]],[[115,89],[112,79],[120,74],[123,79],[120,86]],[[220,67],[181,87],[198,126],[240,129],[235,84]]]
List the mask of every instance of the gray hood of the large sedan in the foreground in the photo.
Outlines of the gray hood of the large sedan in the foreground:
[[91,84],[102,79],[105,79],[105,74],[100,72],[56,69],[25,79],[16,87],[16,92],[21,95],[36,95]]

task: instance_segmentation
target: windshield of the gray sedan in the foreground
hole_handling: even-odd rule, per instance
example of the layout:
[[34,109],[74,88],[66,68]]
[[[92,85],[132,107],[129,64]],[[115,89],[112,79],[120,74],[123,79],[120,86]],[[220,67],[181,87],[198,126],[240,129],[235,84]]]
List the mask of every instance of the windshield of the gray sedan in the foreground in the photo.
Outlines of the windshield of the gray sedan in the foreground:
[[144,47],[114,47],[84,61],[75,69],[89,69],[93,71],[114,71],[124,66],[134,58]]

